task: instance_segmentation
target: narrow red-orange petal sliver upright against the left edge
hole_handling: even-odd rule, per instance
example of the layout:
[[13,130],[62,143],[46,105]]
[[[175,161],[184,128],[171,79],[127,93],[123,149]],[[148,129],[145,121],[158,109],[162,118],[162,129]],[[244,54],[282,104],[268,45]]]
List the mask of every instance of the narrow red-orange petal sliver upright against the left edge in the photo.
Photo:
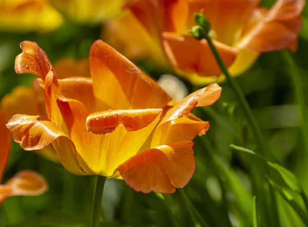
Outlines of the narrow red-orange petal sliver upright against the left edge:
[[[7,162],[9,160],[10,151],[11,151],[11,136],[9,130],[6,128],[7,118],[0,110],[0,135],[1,135],[1,143],[0,143],[0,182],[3,178],[5,168],[7,166]],[[0,194],[1,195],[1,194]],[[1,198],[0,198],[1,202]]]

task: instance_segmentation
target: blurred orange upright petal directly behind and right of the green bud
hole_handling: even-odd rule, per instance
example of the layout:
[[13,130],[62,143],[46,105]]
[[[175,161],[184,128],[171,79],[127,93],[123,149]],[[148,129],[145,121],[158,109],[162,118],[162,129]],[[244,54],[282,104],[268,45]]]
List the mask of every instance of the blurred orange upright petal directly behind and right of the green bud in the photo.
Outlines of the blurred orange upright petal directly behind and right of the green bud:
[[221,43],[232,46],[238,39],[238,32],[247,20],[249,13],[260,0],[190,0],[187,28],[195,25],[193,13],[203,9]]

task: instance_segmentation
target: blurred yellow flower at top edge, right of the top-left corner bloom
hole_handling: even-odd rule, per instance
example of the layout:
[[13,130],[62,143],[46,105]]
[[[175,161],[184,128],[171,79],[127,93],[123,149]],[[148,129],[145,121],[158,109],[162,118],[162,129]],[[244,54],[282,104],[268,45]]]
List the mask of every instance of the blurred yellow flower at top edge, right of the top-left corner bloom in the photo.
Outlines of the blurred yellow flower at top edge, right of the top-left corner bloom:
[[117,15],[128,0],[50,0],[64,15],[85,24],[98,24]]

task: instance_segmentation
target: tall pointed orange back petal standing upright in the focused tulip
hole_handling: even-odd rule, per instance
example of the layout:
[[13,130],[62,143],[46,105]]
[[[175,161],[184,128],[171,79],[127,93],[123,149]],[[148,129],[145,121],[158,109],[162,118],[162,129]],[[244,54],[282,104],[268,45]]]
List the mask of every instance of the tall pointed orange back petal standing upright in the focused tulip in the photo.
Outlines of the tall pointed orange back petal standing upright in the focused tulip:
[[91,46],[90,68],[95,96],[112,109],[163,108],[171,100],[158,84],[101,40]]

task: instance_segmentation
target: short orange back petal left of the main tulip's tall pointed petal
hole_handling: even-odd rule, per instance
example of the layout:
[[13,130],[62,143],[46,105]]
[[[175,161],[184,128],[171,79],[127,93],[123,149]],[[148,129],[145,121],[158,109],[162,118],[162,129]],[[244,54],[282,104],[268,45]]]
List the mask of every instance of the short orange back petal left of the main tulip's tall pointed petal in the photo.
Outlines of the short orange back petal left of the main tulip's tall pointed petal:
[[82,102],[91,112],[95,111],[96,102],[91,78],[66,78],[58,80],[62,96]]

